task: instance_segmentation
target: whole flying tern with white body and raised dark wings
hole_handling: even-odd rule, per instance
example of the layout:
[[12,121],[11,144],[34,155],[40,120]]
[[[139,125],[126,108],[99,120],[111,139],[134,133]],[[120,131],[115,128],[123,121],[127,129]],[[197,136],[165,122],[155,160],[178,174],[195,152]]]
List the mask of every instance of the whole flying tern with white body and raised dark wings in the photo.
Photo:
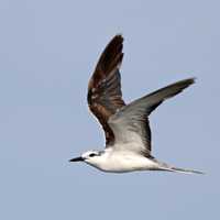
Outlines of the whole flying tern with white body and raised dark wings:
[[88,106],[106,134],[103,151],[87,151],[69,162],[85,162],[102,172],[166,170],[202,172],[178,168],[157,161],[152,154],[148,117],[163,101],[195,82],[184,79],[148,94],[129,105],[122,99],[120,66],[123,37],[116,35],[102,52],[88,85]]

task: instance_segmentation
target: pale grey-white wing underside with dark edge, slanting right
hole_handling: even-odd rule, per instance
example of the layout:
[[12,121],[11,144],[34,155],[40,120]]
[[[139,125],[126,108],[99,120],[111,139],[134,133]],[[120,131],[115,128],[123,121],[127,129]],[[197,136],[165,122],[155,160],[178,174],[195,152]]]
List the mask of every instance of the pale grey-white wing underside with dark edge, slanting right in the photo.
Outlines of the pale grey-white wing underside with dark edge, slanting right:
[[114,146],[151,156],[150,113],[165,99],[179,94],[191,84],[193,78],[177,81],[131,102],[110,117],[109,125],[116,136]]

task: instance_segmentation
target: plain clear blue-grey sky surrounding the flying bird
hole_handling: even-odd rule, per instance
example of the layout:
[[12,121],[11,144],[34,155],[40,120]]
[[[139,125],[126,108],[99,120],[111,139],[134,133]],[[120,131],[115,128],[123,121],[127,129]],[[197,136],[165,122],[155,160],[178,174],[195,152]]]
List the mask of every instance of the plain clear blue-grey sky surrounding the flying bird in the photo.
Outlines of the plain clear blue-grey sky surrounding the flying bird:
[[[219,1],[0,1],[0,219],[218,219]],[[151,116],[153,155],[207,175],[105,174],[68,160],[103,147],[87,84],[122,33],[127,102],[197,84]]]

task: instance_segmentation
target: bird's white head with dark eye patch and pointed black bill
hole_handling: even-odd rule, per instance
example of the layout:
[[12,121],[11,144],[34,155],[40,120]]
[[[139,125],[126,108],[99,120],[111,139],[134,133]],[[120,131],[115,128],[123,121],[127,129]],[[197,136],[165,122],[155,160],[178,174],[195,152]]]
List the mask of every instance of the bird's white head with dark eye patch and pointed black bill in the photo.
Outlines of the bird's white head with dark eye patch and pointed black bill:
[[100,157],[102,152],[100,151],[87,151],[81,156],[69,160],[69,162],[86,162],[89,164],[96,163],[97,158]]

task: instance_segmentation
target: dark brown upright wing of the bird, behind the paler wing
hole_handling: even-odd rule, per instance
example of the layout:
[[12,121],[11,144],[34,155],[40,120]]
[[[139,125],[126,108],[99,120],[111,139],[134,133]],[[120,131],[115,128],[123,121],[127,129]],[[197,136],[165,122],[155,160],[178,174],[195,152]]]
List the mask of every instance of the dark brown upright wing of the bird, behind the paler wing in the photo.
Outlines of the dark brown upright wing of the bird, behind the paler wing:
[[88,86],[89,109],[105,130],[106,145],[114,142],[114,134],[108,124],[108,119],[118,109],[125,106],[122,100],[119,73],[123,58],[122,48],[123,37],[116,35],[101,54]]

